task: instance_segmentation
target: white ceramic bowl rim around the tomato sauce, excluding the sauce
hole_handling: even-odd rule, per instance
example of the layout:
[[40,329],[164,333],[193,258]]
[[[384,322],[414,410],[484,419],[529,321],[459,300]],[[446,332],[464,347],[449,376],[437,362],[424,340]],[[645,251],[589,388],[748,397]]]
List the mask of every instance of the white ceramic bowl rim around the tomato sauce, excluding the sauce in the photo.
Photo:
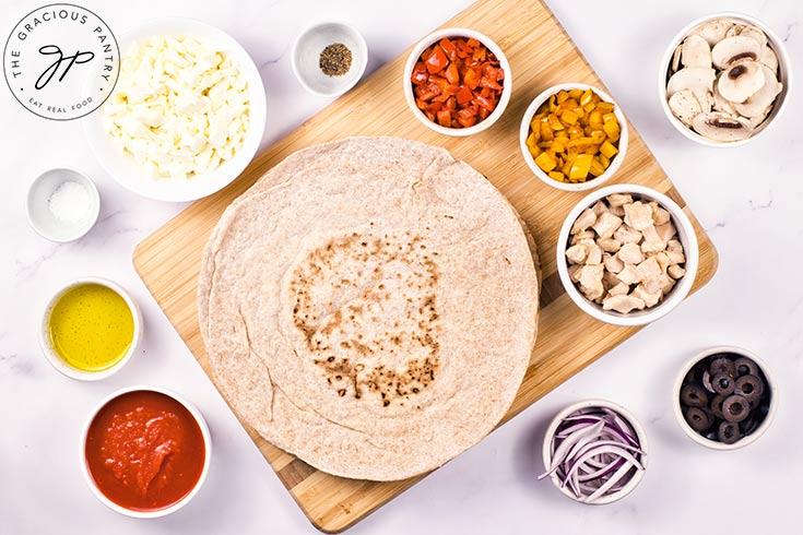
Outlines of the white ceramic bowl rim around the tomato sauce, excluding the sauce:
[[[86,437],[90,432],[90,426],[92,425],[92,420],[95,419],[95,416],[97,416],[97,413],[101,412],[101,409],[106,406],[108,402],[111,400],[122,395],[127,394],[129,392],[138,392],[141,390],[145,391],[152,391],[152,392],[158,392],[161,394],[165,394],[169,397],[173,397],[178,403],[184,405],[184,407],[189,411],[189,413],[194,418],[196,423],[198,423],[198,427],[201,429],[201,436],[203,437],[203,445],[205,450],[205,456],[203,460],[203,468],[201,468],[201,475],[198,478],[198,483],[196,483],[196,486],[192,487],[192,490],[181,498],[179,501],[174,503],[170,507],[167,507],[165,509],[158,509],[155,511],[132,511],[130,509],[126,509],[125,507],[118,506],[114,501],[106,498],[106,495],[104,495],[101,489],[97,488],[97,485],[95,485],[95,480],[92,478],[92,473],[90,472],[90,467],[86,463]],[[160,516],[165,516],[167,514],[174,513],[185,507],[189,501],[198,494],[200,488],[203,486],[203,482],[206,479],[206,474],[209,473],[209,466],[210,462],[212,460],[212,437],[209,432],[209,427],[206,426],[206,420],[203,418],[203,415],[201,414],[198,408],[196,408],[194,405],[192,405],[190,402],[188,402],[182,396],[178,395],[177,393],[163,389],[161,387],[147,387],[147,385],[134,385],[134,387],[127,387],[125,389],[118,390],[116,392],[113,392],[111,394],[104,397],[101,403],[97,404],[97,406],[92,411],[90,416],[86,418],[86,423],[84,424],[83,432],[81,433],[81,456],[80,462],[81,466],[83,467],[84,473],[84,479],[86,480],[86,485],[88,485],[90,490],[92,490],[92,494],[95,495],[95,498],[97,498],[104,506],[108,507],[113,511],[116,511],[120,514],[125,514],[126,516],[131,516],[134,519],[156,519]]]

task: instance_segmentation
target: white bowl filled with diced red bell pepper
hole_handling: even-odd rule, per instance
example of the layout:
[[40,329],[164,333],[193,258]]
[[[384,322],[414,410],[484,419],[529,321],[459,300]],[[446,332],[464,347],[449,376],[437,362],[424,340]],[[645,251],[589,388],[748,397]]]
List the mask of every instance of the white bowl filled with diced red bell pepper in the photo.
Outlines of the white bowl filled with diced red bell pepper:
[[413,115],[446,135],[471,135],[501,117],[512,92],[510,64],[488,36],[444,28],[422,39],[404,68]]

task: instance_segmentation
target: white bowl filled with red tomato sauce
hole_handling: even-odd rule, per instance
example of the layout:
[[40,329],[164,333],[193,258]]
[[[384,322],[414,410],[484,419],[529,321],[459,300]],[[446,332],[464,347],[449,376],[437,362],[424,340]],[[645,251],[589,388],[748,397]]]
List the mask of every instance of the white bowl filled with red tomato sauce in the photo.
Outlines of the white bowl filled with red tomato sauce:
[[158,387],[105,397],[86,420],[82,465],[90,489],[118,513],[153,519],[186,506],[212,455],[209,428],[187,400]]

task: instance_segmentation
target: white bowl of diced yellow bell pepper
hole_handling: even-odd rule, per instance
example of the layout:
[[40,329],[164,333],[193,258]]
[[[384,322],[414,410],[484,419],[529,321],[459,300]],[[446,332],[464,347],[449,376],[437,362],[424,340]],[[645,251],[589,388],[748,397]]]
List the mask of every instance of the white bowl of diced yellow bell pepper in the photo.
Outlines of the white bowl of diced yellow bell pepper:
[[527,108],[519,139],[535,176],[564,191],[584,191],[604,183],[624,162],[627,120],[597,87],[559,84]]

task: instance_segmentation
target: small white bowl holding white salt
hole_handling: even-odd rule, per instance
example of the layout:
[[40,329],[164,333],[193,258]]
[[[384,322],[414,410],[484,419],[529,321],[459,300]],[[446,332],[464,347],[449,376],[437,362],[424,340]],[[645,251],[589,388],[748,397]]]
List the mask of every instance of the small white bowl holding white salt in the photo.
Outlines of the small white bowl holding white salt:
[[99,213],[101,195],[95,183],[75,169],[49,169],[28,188],[28,222],[50,241],[79,239],[95,225]]

